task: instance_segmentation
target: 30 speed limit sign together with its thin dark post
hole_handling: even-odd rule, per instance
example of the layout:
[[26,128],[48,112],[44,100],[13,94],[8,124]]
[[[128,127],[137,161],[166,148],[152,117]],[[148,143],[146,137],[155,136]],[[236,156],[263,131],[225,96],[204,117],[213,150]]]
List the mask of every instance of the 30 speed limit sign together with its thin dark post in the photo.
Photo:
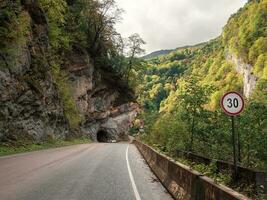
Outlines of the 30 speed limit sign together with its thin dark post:
[[244,110],[244,99],[237,92],[228,92],[221,99],[221,107],[223,111],[231,116],[232,121],[232,142],[234,156],[234,179],[238,178],[237,152],[236,152],[236,135],[235,135],[235,116],[239,115]]

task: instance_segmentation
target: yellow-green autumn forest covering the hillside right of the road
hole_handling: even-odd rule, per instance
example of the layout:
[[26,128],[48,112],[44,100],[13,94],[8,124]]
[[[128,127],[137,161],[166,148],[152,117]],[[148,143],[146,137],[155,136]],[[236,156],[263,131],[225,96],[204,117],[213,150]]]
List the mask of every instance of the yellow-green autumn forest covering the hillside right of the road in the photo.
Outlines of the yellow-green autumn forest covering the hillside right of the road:
[[143,77],[136,90],[144,111],[133,132],[144,123],[139,137],[163,152],[232,161],[231,120],[220,99],[237,91],[246,98],[236,120],[239,164],[267,170],[266,53],[267,1],[251,0],[220,37],[146,60],[136,72]]

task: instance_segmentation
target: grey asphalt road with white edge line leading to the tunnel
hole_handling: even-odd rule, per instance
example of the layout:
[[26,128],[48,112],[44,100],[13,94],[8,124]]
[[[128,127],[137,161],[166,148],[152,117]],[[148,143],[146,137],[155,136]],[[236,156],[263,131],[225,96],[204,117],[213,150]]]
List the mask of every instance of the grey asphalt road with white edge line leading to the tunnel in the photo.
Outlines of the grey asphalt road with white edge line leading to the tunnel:
[[85,144],[0,157],[1,200],[169,200],[132,144]]

